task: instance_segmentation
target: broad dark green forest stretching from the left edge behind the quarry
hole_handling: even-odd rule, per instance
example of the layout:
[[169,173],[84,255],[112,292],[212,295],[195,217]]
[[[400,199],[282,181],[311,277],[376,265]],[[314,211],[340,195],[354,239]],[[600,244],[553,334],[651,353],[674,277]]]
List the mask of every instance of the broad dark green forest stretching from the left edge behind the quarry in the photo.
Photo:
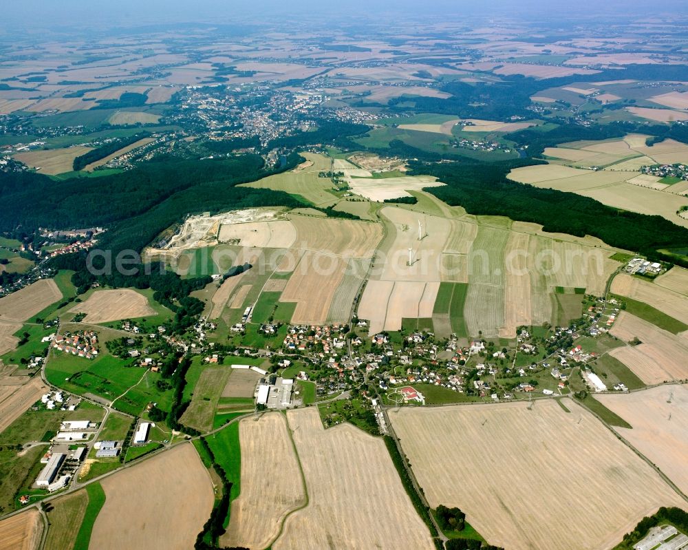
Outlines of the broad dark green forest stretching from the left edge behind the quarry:
[[[281,168],[301,162],[293,154]],[[223,160],[161,158],[140,167],[85,181],[56,182],[38,173],[0,173],[0,198],[12,204],[0,231],[38,227],[107,226],[102,246],[140,251],[160,231],[188,213],[281,205],[303,206],[291,195],[236,187],[275,173],[257,155]],[[118,222],[122,222],[118,225]]]

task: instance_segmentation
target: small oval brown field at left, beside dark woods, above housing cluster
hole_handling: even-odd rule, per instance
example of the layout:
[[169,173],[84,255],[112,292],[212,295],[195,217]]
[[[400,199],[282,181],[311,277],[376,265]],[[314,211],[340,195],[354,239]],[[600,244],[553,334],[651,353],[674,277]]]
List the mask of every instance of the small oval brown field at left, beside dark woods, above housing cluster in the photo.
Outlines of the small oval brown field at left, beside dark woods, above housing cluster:
[[86,302],[77,304],[69,312],[85,313],[85,323],[107,323],[155,315],[155,310],[149,306],[147,297],[129,288],[96,290]]

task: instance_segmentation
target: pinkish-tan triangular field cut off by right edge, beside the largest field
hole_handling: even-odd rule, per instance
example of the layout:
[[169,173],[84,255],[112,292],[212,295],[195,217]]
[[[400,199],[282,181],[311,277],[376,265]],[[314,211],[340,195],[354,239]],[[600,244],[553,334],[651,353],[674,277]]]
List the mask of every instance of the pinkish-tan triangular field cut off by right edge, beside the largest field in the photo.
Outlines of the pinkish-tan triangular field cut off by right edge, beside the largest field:
[[630,394],[600,394],[595,399],[633,426],[632,430],[614,427],[614,431],[688,493],[688,386],[661,385]]

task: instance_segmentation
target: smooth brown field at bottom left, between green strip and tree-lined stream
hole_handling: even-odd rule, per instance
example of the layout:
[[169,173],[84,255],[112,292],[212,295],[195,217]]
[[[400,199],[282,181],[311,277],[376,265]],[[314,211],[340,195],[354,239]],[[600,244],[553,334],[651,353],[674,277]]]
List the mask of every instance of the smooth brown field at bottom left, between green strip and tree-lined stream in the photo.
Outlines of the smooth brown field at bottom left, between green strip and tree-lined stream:
[[122,540],[149,550],[188,550],[213,509],[213,484],[191,443],[183,443],[100,482],[105,505],[92,549],[121,550]]

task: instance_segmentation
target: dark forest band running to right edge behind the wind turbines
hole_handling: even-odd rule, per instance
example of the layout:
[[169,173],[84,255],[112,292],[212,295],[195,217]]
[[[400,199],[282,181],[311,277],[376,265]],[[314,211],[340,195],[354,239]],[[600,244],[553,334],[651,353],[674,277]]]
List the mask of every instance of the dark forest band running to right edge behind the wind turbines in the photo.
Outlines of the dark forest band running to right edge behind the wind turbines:
[[688,242],[688,229],[658,215],[621,211],[575,193],[540,189],[506,179],[513,168],[537,164],[530,159],[484,164],[480,162],[412,162],[413,173],[436,176],[447,185],[430,193],[471,214],[503,215],[535,222],[550,233],[592,235],[612,246],[638,251],[667,262],[660,248],[676,248]]

